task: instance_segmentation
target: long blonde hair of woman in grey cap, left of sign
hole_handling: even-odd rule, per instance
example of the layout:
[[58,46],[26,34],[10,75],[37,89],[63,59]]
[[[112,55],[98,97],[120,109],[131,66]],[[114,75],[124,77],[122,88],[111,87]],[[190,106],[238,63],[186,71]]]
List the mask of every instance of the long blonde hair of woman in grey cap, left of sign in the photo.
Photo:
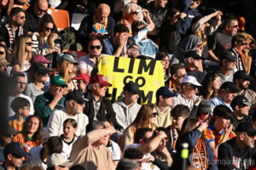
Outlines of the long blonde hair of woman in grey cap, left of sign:
[[59,62],[58,62],[58,65],[57,65],[57,69],[59,71],[59,75],[61,77],[64,78],[64,81],[65,82],[71,82],[72,78],[74,77],[75,75],[75,72],[76,72],[76,69],[73,70],[72,73],[70,73],[68,71],[68,66],[71,65],[72,63],[65,60],[65,59],[61,59]]

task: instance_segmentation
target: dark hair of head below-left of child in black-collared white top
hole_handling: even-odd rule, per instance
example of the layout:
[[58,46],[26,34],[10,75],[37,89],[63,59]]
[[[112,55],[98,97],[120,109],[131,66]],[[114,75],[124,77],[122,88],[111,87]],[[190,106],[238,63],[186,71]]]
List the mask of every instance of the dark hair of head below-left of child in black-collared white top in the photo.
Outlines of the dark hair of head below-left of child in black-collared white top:
[[59,136],[49,137],[47,147],[49,149],[49,155],[52,155],[53,153],[60,154],[63,147],[61,138]]

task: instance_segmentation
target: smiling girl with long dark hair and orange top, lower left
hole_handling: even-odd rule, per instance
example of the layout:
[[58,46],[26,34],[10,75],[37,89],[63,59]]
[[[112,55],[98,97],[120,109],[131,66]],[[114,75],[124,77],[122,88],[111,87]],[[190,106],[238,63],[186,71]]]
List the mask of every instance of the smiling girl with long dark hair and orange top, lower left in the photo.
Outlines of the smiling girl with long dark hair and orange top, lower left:
[[42,145],[44,137],[43,122],[38,116],[27,116],[23,128],[18,133],[14,142],[20,143],[20,146],[26,152],[29,152],[33,147]]

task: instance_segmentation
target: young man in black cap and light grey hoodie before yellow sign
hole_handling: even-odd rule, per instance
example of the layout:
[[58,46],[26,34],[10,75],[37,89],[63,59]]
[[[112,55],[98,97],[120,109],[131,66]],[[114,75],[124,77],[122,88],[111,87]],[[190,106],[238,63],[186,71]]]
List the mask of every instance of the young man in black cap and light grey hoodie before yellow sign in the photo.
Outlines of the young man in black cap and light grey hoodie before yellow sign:
[[120,126],[120,135],[124,133],[126,127],[131,125],[137,116],[137,112],[142,107],[137,104],[139,94],[140,89],[137,82],[128,82],[124,87],[124,97],[113,103],[113,111],[118,113],[116,114],[116,120]]

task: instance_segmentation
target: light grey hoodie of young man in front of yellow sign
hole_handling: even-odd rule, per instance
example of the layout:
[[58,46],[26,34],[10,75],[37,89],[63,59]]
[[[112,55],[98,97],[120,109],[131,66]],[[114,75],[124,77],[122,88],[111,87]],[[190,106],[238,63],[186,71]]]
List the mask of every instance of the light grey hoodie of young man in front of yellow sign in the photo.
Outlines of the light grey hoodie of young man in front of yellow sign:
[[116,113],[116,120],[121,127],[119,133],[123,133],[125,128],[131,125],[137,116],[137,112],[142,107],[142,105],[135,103],[128,108],[123,102],[123,99],[124,98],[119,98],[118,101],[113,103],[113,111]]

